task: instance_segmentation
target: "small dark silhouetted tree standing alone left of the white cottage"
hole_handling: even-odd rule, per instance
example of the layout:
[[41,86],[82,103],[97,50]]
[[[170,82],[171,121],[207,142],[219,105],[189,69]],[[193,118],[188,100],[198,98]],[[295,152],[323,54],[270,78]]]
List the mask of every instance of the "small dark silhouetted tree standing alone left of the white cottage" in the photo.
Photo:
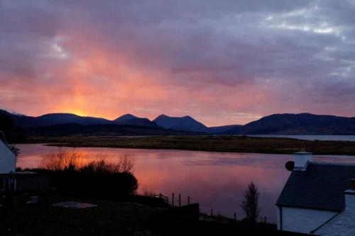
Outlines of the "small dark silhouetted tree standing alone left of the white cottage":
[[246,220],[251,223],[256,223],[256,219],[258,218],[260,212],[258,208],[259,195],[260,193],[258,192],[258,189],[255,184],[253,184],[253,181],[251,181],[248,189],[246,189],[244,193],[244,200],[241,203],[241,208],[246,214]]

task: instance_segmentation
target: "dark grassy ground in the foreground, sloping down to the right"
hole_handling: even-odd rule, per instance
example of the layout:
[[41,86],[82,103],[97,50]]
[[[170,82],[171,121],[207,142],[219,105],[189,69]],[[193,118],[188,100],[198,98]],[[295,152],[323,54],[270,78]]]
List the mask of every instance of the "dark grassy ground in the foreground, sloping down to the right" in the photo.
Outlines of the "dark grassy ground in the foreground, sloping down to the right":
[[[97,207],[72,209],[52,206],[63,201],[92,203]],[[38,205],[1,206],[0,235],[298,235],[277,231],[273,224],[248,225],[223,216],[211,218],[206,215],[204,220],[198,220],[198,216],[195,220],[184,220],[180,214],[173,216],[166,209],[138,203],[43,196]]]

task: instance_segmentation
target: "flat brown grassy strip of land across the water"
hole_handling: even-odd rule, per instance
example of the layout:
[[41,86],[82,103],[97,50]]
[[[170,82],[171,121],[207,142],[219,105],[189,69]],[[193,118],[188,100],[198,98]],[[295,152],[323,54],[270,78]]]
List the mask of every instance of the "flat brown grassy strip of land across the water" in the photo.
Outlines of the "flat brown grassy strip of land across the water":
[[258,152],[291,154],[302,147],[314,154],[355,155],[355,142],[310,141],[279,137],[235,136],[141,136],[141,137],[28,137],[28,143],[67,147],[124,147],[207,152]]

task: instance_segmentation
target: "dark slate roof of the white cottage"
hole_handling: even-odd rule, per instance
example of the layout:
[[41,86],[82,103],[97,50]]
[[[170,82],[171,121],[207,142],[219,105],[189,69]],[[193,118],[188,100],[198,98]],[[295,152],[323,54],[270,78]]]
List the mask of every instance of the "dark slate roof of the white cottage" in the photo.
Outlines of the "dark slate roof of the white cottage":
[[293,170],[276,205],[342,211],[351,179],[355,164],[309,162],[305,171]]

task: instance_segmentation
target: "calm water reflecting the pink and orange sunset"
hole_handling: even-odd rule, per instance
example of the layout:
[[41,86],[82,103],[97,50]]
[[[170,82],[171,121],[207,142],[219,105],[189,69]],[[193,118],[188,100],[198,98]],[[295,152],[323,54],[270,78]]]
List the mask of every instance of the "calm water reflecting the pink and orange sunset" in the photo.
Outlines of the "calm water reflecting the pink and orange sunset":
[[[58,150],[58,147],[44,145],[16,145],[21,149],[18,167],[37,167],[41,155]],[[290,172],[285,162],[293,159],[288,154],[221,153],[182,150],[139,150],[123,148],[78,148],[87,154],[87,159],[99,158],[105,154],[112,162],[121,155],[136,158],[133,174],[138,179],[138,192],[148,189],[171,197],[182,195],[182,204],[200,203],[202,212],[221,213],[238,218],[243,217],[239,207],[243,193],[253,181],[261,193],[261,217],[269,222],[276,221],[275,201],[282,190]],[[322,162],[353,162],[349,156],[315,156]]]

